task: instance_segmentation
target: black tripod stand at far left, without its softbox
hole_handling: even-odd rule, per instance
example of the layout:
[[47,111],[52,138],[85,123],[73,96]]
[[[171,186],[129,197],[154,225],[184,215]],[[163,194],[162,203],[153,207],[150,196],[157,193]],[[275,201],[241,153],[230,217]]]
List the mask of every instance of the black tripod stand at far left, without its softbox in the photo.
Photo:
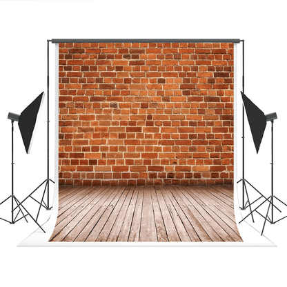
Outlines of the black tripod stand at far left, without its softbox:
[[[12,166],[12,189],[11,189],[11,195],[9,197],[7,197],[4,201],[2,201],[1,204],[3,204],[4,202],[6,202],[8,199],[11,198],[11,221],[8,221],[8,220],[3,219],[3,218],[0,218],[0,219],[7,221],[10,224],[15,224],[17,221],[19,221],[22,218],[25,218],[25,220],[28,222],[28,220],[26,219],[26,216],[29,215],[33,219],[33,221],[39,226],[39,228],[41,228],[41,226],[37,223],[37,221],[34,219],[34,217],[32,217],[32,215],[30,215],[30,213],[26,210],[26,208],[17,199],[17,197],[14,196],[14,121],[19,121],[19,118],[20,118],[19,115],[13,114],[12,112],[9,112],[9,114],[8,114],[8,119],[10,119],[11,123],[12,123],[12,162],[11,162],[11,166]],[[16,208],[14,208],[14,203],[17,204]],[[14,211],[17,208],[19,208],[19,211],[17,212],[17,215],[14,216]],[[27,215],[23,214],[23,211],[21,208],[23,208],[23,210],[25,210],[27,212]],[[20,212],[23,216],[21,218],[17,219]],[[41,230],[43,230],[43,228],[41,228]],[[45,231],[43,230],[43,232],[45,232]]]

